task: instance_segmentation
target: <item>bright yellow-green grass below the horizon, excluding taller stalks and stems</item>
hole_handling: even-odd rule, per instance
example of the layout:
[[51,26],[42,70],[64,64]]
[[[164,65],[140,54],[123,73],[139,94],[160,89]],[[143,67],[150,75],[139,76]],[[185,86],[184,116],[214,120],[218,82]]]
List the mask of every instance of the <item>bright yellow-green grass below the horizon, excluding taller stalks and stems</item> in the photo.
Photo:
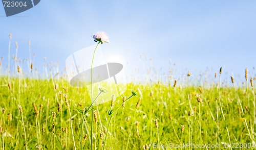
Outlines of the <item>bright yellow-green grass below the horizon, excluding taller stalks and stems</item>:
[[[105,131],[108,128],[108,124],[109,130],[105,149],[125,149],[126,147],[127,149],[143,149],[146,144],[151,149],[154,149],[153,145],[159,144],[159,142],[161,144],[181,144],[188,143],[189,141],[193,144],[200,144],[200,142],[202,142],[202,144],[217,144],[218,142],[220,142],[220,144],[229,144],[227,129],[231,143],[252,144],[252,140],[254,140],[253,94],[252,89],[249,88],[248,106],[247,88],[245,86],[236,87],[238,94],[232,86],[221,86],[219,95],[217,83],[207,88],[200,87],[202,93],[197,86],[188,86],[187,88],[179,86],[179,81],[176,87],[173,87],[173,85],[164,85],[161,84],[161,82],[152,85],[127,84],[127,90],[124,94],[115,98],[113,107],[111,107],[111,101],[94,107],[94,110],[98,111],[97,124],[95,124],[94,119],[91,119],[91,113],[93,113],[93,111],[90,111],[86,117],[84,117],[84,124],[82,124],[83,116],[77,109],[82,110],[84,107],[89,107],[91,104],[90,92],[88,92],[87,88],[72,87],[62,78],[58,81],[21,78],[19,92],[18,78],[10,78],[10,83],[12,86],[11,91],[7,85],[8,78],[0,78],[0,108],[5,108],[6,110],[5,114],[0,114],[0,126],[3,127],[0,136],[0,147],[2,149],[25,149],[26,141],[28,149],[35,149],[36,147],[38,148],[38,146],[40,146],[41,149],[74,149],[70,114],[63,94],[67,94],[68,99],[71,99],[69,107],[77,149],[81,149],[80,137],[82,126],[82,138],[87,134],[87,138],[82,139],[83,149],[89,149],[91,147],[91,138],[93,138],[93,149],[95,149],[95,147],[96,149],[102,149],[102,142],[105,139]],[[53,83],[58,85],[56,92]],[[105,88],[108,90],[108,87]],[[120,109],[112,115],[111,122],[109,122],[111,116],[109,116],[107,109],[115,111],[117,107],[122,104],[123,96],[129,97],[132,94],[132,90],[138,91],[138,89],[141,91],[141,93],[139,93],[141,97],[139,107],[136,109],[140,97],[134,96],[129,99],[129,101],[125,102],[124,108],[121,106]],[[97,91],[96,87],[94,87],[94,91]],[[153,94],[151,96],[152,92]],[[58,93],[62,94],[62,98]],[[56,94],[57,99],[55,97]],[[190,94],[191,108],[193,109],[192,112],[194,112],[193,116],[188,116],[188,111],[191,112],[188,101]],[[104,93],[101,95],[104,96]],[[202,99],[200,103],[200,115],[199,103],[197,101],[198,95],[200,95]],[[95,96],[97,95],[94,95],[94,97]],[[22,115],[18,109],[18,97],[19,105],[23,107],[25,130],[23,128]],[[112,97],[107,98],[111,100]],[[216,101],[216,98],[219,98],[218,101]],[[239,104],[239,98],[244,114]],[[61,103],[60,112],[58,112],[57,101]],[[219,101],[221,102],[225,120],[222,116]],[[87,103],[85,104],[85,102]],[[39,112],[37,117],[33,107],[34,103]],[[40,105],[43,106],[41,111],[39,109]],[[250,112],[245,109],[245,106]],[[216,110],[218,110],[219,134],[217,132],[218,120]],[[135,113],[135,111],[137,112]],[[53,112],[56,113],[56,118],[54,119]],[[8,119],[9,113],[11,114],[10,119]],[[199,120],[200,118],[201,120]],[[155,127],[155,120],[158,121],[158,129]],[[246,127],[245,120],[250,133]],[[90,135],[91,121],[94,121],[93,137]],[[138,126],[136,126],[136,121],[139,122]],[[43,126],[45,128],[44,134],[42,134],[41,130]],[[183,132],[181,132],[182,126],[184,126]],[[62,127],[64,129],[67,128],[68,133],[63,132]],[[96,131],[97,133],[95,133]],[[97,136],[95,134],[97,134]],[[100,134],[103,134],[102,139],[100,138]],[[200,141],[200,137],[202,141]],[[127,145],[128,139],[129,142]],[[235,149],[237,144],[231,146]]]

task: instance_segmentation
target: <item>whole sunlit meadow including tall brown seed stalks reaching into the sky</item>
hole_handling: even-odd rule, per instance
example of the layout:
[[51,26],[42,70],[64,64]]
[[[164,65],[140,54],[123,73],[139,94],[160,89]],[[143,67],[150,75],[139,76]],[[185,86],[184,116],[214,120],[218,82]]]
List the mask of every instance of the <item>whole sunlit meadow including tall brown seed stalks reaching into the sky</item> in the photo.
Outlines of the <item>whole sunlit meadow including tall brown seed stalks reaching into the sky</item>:
[[52,64],[39,78],[31,57],[11,62],[0,64],[1,149],[255,149],[247,68],[242,81],[222,80],[222,68],[200,83],[196,73],[169,74],[167,82],[127,83],[119,96],[92,86],[109,99],[94,105],[97,95],[92,101],[88,87],[72,87]]

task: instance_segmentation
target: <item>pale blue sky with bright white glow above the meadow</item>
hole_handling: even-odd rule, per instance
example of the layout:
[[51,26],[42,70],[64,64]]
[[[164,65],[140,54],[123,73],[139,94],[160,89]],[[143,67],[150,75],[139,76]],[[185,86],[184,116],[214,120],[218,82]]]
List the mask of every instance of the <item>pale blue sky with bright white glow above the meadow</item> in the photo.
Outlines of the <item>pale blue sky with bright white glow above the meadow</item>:
[[[28,58],[28,40],[34,64],[42,70],[44,57],[65,66],[73,52],[95,44],[91,35],[105,31],[109,44],[104,55],[119,56],[126,71],[149,66],[168,72],[193,74],[222,66],[231,74],[254,76],[256,64],[256,1],[41,1],[34,8],[6,17],[0,7],[0,57],[7,64],[8,34],[11,53],[18,42],[20,58]],[[143,57],[143,64],[140,61]],[[161,70],[162,68],[162,70]],[[173,69],[173,68],[171,68]]]

